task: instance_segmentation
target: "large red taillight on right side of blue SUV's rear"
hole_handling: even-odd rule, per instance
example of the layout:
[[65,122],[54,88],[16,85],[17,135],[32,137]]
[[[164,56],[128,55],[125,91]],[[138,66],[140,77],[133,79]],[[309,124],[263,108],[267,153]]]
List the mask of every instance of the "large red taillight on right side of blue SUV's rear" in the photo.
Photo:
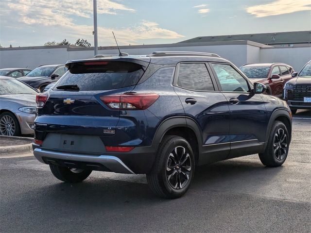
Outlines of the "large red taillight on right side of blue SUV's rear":
[[126,93],[100,98],[111,109],[144,110],[149,108],[159,98],[159,95],[154,93]]

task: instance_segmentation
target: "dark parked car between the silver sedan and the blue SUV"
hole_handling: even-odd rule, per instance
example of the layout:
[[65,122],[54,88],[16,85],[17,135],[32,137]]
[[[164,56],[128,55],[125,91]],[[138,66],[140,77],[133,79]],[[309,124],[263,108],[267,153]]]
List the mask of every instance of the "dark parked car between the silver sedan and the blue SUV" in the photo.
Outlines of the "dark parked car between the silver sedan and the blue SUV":
[[42,92],[47,85],[56,82],[66,71],[65,65],[45,65],[36,67],[25,77],[18,79]]

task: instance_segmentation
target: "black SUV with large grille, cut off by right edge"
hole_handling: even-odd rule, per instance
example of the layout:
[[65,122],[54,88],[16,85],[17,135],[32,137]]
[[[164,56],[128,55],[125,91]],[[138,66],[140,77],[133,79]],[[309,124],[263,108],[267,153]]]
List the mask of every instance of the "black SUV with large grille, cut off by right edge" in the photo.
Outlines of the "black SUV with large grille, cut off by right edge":
[[294,72],[292,77],[284,86],[284,100],[287,100],[293,114],[297,109],[311,109],[311,61],[299,74]]

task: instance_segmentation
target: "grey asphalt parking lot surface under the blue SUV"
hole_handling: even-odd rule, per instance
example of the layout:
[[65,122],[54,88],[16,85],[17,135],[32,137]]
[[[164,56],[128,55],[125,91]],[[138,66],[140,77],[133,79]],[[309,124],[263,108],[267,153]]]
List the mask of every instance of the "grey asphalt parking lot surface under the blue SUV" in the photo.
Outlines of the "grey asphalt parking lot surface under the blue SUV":
[[145,176],[93,172],[62,183],[32,156],[0,159],[0,232],[311,232],[311,113],[294,115],[285,164],[257,155],[198,167],[163,200]]

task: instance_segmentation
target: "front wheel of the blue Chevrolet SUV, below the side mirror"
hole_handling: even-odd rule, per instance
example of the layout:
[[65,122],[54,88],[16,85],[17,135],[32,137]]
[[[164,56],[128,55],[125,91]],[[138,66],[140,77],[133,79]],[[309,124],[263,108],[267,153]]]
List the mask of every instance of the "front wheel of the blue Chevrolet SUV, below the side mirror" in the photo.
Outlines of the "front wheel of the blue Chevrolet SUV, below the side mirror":
[[261,163],[271,167],[281,166],[287,158],[289,144],[290,137],[286,126],[281,121],[275,121],[271,128],[266,150],[259,153]]

